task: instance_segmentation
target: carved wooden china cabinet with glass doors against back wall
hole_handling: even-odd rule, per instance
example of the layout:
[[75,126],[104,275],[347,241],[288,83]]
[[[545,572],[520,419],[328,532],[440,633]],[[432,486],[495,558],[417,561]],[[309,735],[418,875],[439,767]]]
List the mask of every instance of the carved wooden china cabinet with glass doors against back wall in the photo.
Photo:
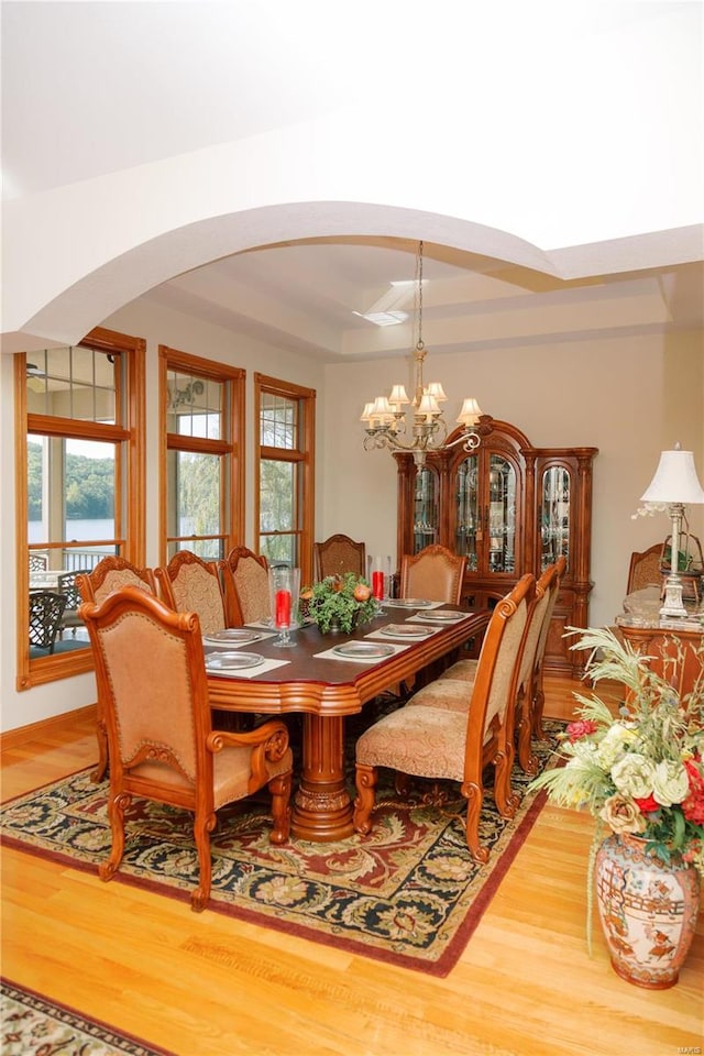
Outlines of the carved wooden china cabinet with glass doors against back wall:
[[490,415],[482,416],[476,431],[482,443],[475,451],[458,446],[433,452],[418,472],[413,455],[395,452],[398,560],[432,542],[466,554],[463,604],[492,608],[525,572],[539,576],[563,554],[566,573],[546,666],[576,674],[584,657],[570,651],[563,634],[588,620],[597,449],[534,448],[516,426]]

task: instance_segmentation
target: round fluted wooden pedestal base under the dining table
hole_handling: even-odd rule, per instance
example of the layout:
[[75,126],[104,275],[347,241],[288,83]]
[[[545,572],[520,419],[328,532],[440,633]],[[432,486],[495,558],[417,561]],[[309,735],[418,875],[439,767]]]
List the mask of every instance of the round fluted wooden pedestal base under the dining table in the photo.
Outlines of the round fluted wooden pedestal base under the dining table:
[[352,835],[352,801],[344,781],[344,719],[304,716],[302,772],[294,796],[292,835],[333,843]]

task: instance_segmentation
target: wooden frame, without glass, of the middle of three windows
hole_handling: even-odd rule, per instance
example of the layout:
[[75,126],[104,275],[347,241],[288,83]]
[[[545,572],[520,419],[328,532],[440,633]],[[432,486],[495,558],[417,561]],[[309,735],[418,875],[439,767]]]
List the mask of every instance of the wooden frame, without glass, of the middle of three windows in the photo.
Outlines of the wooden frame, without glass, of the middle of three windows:
[[[166,344],[158,346],[160,361],[160,561],[168,562],[168,452],[193,451],[197,454],[217,454],[224,457],[226,472],[222,475],[224,491],[230,495],[230,517],[223,525],[223,547],[227,557],[241,538],[244,521],[244,384],[246,373],[242,367],[229,366],[217,360],[207,360],[190,352],[172,349]],[[168,432],[168,372],[176,371],[218,382],[229,386],[227,410],[223,414],[222,439],[209,440],[206,437],[189,437]],[[198,538],[213,538],[211,536]]]

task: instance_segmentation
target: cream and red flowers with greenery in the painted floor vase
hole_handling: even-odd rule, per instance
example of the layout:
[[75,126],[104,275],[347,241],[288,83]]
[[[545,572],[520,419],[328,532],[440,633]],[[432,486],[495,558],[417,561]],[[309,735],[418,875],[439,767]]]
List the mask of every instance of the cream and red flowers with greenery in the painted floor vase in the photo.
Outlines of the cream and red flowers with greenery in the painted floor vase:
[[[588,628],[571,648],[591,650],[586,676],[620,682],[627,700],[614,716],[596,694],[575,693],[580,718],[558,749],[565,765],[530,788],[598,820],[593,853],[606,826],[642,837],[646,853],[666,864],[680,856],[704,875],[704,648],[702,674],[682,698],[608,628]],[[672,663],[682,662],[680,652]]]

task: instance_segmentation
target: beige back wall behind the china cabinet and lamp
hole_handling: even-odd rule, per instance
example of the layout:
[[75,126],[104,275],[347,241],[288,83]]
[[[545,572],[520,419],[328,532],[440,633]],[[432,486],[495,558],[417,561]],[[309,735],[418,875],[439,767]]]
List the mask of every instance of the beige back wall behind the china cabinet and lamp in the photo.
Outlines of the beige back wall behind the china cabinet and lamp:
[[[656,471],[660,451],[680,440],[694,451],[704,482],[704,343],[702,333],[630,337],[542,348],[435,354],[427,382],[450,396],[475,396],[485,414],[518,426],[536,447],[596,447],[594,460],[591,620],[613,623],[620,612],[634,550],[663,539],[663,514],[631,519]],[[322,535],[346,531],[372,553],[396,558],[396,462],[362,450],[358,420],[364,403],[408,381],[403,360],[331,364],[326,370],[327,461]],[[353,422],[356,421],[356,426]],[[704,508],[693,530],[704,538]]]

